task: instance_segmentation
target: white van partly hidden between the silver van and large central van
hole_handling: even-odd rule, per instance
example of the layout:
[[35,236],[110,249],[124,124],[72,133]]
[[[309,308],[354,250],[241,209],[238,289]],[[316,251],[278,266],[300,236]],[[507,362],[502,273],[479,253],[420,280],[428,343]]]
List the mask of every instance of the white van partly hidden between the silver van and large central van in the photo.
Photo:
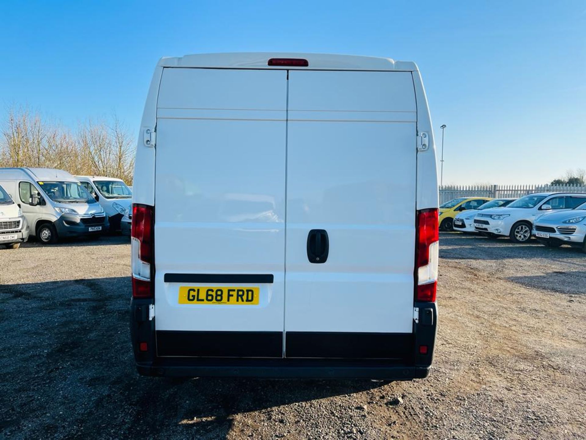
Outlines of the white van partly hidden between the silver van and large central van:
[[132,191],[122,179],[76,175],[84,188],[98,201],[108,216],[110,231],[120,231],[121,221],[130,213]]

